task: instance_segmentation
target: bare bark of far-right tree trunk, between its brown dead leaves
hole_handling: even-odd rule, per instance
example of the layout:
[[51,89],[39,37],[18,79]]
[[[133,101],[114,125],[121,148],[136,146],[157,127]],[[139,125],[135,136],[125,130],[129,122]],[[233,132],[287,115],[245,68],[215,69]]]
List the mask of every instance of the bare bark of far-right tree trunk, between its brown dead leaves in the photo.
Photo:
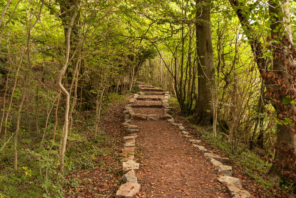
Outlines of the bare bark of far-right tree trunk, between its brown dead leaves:
[[[276,7],[279,8],[276,9]],[[289,38],[289,42],[290,43],[284,43],[285,41],[281,41],[283,42],[285,45],[292,45],[292,31],[291,31],[291,27],[290,27],[290,16],[289,16],[289,0],[287,1],[280,1],[278,4],[274,3],[273,1],[271,1],[269,3],[269,12],[271,15],[271,19],[273,20],[273,22],[270,25],[271,28],[271,37],[275,38],[276,41],[280,41],[281,38],[284,38],[284,36],[287,36]],[[281,11],[284,14],[284,17],[279,19],[278,16],[278,12]],[[282,22],[287,22],[287,24],[284,24],[285,26],[285,30],[284,33],[281,34],[280,31],[277,30],[278,27],[282,28],[283,23]],[[274,30],[274,31],[273,31]],[[276,46],[273,50],[276,51],[276,53],[278,53],[276,55],[276,53],[273,55],[273,59],[272,59],[272,70],[276,75],[279,75],[281,77],[281,79],[287,78],[287,79],[291,79],[291,76],[289,74],[289,72],[287,72],[288,67],[287,64],[285,62],[287,62],[288,60],[286,59],[287,57],[287,52],[282,51],[282,47],[278,46],[278,44],[276,43],[271,43],[273,46]],[[280,51],[280,52],[278,52]],[[279,55],[280,53],[280,55]],[[288,82],[286,82],[285,84],[288,84]],[[272,87],[274,89],[278,89],[281,90],[281,83],[279,83],[279,85],[273,85]],[[277,97],[277,100],[282,100],[285,98],[285,93],[281,94],[280,96]],[[291,108],[295,111],[295,104],[290,104]],[[276,103],[275,104],[275,108],[276,108],[276,112],[277,112],[277,117],[280,118],[283,113],[287,113],[288,115],[290,114],[289,111],[287,110],[287,108],[284,105],[281,105],[280,103]],[[290,115],[289,115],[290,116]],[[281,120],[281,119],[280,119]],[[292,131],[289,129],[289,126],[284,125],[284,124],[277,124],[277,134],[276,134],[276,146],[277,147],[284,147],[284,145],[282,144],[282,142],[287,143],[288,147],[293,148],[294,152],[296,152],[296,135],[293,135]],[[276,150],[275,153],[275,157],[276,160],[282,160],[281,156],[279,154],[279,150]],[[278,181],[277,179],[280,177],[280,173],[278,168],[275,166],[275,164],[272,165],[271,167],[271,171],[270,174],[268,175],[269,179],[271,181],[276,182],[277,184]]]

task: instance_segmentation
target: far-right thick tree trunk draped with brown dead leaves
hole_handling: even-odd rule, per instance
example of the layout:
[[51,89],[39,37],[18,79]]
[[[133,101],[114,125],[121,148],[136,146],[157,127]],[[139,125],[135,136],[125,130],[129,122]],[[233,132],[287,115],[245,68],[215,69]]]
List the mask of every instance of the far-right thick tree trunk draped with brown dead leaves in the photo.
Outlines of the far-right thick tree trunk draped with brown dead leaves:
[[[277,113],[277,134],[276,134],[276,153],[275,160],[282,161],[281,151],[279,148],[286,145],[296,152],[296,135],[295,126],[291,128],[291,123],[287,122],[287,118],[295,116],[296,107],[294,104],[285,104],[284,99],[289,96],[291,99],[295,97],[295,87],[291,84],[295,79],[294,72],[291,65],[294,63],[287,57],[289,57],[288,49],[293,49],[292,43],[292,31],[290,26],[289,16],[289,1],[280,1],[275,3],[271,1],[269,3],[269,12],[271,16],[271,50],[273,51],[273,59],[271,63],[272,73],[264,75],[269,80],[272,86],[267,90],[268,95],[274,98],[274,107]],[[276,41],[280,42],[277,43]],[[272,74],[272,76],[270,76]],[[294,75],[294,76],[293,76]],[[273,78],[275,77],[276,80]],[[289,79],[289,80],[288,80]],[[295,81],[294,81],[295,82]],[[291,121],[292,122],[292,121]],[[294,128],[294,129],[293,129]],[[294,131],[293,131],[294,130]],[[280,171],[274,163],[271,167],[271,171],[268,175],[271,181],[279,184],[277,179],[281,176]]]

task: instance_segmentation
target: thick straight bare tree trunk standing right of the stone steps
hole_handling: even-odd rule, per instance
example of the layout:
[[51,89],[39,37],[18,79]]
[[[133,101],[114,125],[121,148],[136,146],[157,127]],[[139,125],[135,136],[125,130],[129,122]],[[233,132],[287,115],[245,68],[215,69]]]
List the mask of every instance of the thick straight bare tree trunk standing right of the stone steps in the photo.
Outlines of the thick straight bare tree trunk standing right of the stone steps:
[[[197,4],[200,1],[197,1]],[[198,73],[198,98],[197,109],[193,118],[194,123],[210,125],[213,123],[213,104],[215,101],[215,69],[214,55],[210,24],[210,7],[203,7],[202,13],[197,12],[202,22],[196,22],[196,50],[199,60],[197,62]]]

